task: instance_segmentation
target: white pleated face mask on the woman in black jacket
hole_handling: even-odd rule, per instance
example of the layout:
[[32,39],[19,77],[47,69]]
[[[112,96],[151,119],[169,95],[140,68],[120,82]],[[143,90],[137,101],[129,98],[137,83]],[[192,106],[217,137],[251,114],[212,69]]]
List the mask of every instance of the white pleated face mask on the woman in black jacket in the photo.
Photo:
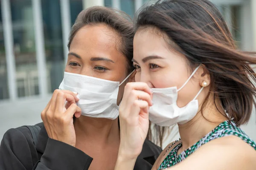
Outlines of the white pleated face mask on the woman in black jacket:
[[119,115],[119,106],[116,104],[119,86],[131,74],[119,84],[110,80],[64,72],[59,89],[78,93],[77,105],[81,108],[82,115],[113,120]]

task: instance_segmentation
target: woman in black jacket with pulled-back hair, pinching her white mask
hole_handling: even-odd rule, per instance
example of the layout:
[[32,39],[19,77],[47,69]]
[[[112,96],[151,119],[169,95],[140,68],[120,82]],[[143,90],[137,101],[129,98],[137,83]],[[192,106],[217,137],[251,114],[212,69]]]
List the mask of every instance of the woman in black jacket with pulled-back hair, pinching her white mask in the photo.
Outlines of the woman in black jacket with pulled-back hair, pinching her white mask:
[[[0,170],[113,170],[118,105],[134,79],[133,38],[133,23],[122,11],[81,11],[71,29],[64,79],[41,113],[43,123],[5,133]],[[150,170],[160,152],[146,140],[134,170]]]

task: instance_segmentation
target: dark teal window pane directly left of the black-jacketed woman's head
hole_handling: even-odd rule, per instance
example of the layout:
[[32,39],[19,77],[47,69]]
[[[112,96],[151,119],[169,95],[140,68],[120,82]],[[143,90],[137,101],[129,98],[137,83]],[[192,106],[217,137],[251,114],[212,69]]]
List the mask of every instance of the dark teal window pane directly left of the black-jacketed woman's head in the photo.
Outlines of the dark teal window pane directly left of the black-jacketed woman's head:
[[42,0],[44,42],[48,89],[52,93],[60,85],[64,73],[64,51],[59,0]]

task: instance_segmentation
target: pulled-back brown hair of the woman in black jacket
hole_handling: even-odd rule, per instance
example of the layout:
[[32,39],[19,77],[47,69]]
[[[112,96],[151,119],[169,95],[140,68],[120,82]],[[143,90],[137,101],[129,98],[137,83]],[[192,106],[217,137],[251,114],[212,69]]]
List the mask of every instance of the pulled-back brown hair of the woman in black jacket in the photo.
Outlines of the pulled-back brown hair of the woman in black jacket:
[[81,11],[71,28],[68,49],[76,32],[86,25],[104,24],[119,36],[117,49],[127,58],[129,74],[133,71],[131,59],[133,58],[134,26],[131,18],[125,12],[102,6],[93,6]]

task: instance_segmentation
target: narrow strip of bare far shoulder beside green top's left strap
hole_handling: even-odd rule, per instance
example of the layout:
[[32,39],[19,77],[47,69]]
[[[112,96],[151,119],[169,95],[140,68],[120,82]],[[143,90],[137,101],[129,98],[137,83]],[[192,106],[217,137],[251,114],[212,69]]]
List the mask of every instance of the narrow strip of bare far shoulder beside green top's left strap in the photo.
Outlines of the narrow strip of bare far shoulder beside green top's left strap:
[[171,142],[170,144],[168,144],[163,151],[160,153],[160,155],[158,156],[157,160],[154,163],[154,166],[152,167],[151,170],[157,170],[158,167],[160,166],[160,164],[163,162],[163,160],[166,158],[166,156],[169,154],[169,152],[175,147],[177,146],[177,144],[179,144],[181,142]]

